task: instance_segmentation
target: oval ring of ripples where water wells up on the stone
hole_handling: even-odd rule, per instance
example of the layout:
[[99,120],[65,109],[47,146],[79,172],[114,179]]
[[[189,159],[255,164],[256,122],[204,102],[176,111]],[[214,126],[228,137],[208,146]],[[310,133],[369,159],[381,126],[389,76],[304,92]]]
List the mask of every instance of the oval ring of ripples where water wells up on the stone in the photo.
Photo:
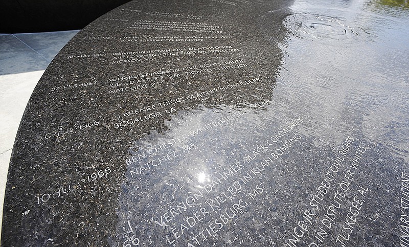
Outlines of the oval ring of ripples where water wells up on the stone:
[[315,14],[290,14],[284,20],[285,27],[296,37],[344,40],[358,34],[340,20]]

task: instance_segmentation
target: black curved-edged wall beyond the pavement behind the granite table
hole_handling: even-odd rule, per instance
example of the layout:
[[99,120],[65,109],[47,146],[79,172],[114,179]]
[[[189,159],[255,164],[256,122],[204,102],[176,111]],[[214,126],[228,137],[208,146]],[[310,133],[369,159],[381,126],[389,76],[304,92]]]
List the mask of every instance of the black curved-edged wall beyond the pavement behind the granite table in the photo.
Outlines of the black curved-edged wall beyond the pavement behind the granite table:
[[82,29],[129,0],[1,0],[0,33]]

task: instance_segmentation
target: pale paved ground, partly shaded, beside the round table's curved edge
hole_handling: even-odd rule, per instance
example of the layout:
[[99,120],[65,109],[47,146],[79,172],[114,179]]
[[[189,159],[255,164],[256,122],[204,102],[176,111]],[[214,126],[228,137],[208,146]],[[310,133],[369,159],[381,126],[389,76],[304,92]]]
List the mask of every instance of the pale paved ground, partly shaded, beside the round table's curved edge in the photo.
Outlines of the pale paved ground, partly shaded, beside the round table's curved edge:
[[[78,31],[0,34],[0,219],[10,156],[22,114],[44,70]],[[1,226],[0,220],[0,232]]]

